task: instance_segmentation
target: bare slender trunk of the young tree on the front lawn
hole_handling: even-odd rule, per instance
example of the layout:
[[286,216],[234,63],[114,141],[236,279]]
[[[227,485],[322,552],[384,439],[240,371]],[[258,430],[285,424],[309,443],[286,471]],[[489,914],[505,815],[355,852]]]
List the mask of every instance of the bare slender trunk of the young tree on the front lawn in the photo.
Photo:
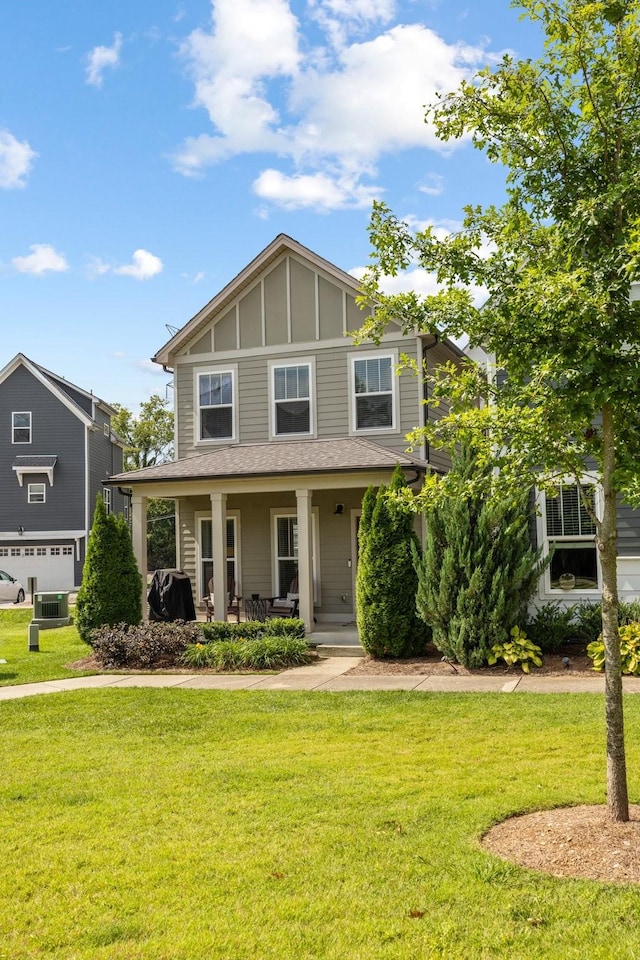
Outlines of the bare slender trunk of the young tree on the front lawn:
[[622,668],[618,635],[617,497],[614,485],[615,435],[611,407],[602,411],[604,510],[597,546],[602,569],[602,638],[605,648],[605,717],[607,727],[607,808],[612,820],[629,819],[624,750]]

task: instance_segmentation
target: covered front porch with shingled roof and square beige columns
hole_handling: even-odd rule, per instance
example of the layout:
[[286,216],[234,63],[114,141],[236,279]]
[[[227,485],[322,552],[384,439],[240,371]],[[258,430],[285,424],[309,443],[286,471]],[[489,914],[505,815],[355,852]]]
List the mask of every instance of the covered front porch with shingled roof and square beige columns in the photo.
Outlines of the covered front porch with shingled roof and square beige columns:
[[147,500],[173,499],[176,566],[190,577],[197,608],[212,593],[214,618],[226,620],[231,594],[242,598],[246,616],[256,610],[254,599],[287,599],[295,591],[313,634],[354,624],[362,497],[368,486],[389,482],[398,461],[421,482],[422,461],[359,438],[218,448],[109,482],[132,488],[141,571]]

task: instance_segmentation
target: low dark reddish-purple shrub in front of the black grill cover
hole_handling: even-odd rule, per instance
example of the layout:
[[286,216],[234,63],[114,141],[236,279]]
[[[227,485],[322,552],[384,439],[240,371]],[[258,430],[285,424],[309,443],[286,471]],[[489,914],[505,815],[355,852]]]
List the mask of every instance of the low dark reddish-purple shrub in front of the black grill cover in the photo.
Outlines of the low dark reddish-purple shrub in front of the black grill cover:
[[148,670],[174,666],[189,644],[202,640],[195,623],[119,623],[94,630],[91,645],[100,666]]

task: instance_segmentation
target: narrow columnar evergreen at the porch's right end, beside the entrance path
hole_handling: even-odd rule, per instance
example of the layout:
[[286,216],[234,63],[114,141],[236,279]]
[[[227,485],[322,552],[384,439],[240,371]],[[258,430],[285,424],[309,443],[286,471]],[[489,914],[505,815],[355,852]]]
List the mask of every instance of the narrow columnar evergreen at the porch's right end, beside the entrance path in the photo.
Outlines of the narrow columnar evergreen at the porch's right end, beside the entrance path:
[[356,610],[360,642],[373,657],[409,657],[424,651],[429,631],[416,613],[419,554],[414,514],[394,496],[406,480],[398,465],[389,487],[369,487],[358,530]]

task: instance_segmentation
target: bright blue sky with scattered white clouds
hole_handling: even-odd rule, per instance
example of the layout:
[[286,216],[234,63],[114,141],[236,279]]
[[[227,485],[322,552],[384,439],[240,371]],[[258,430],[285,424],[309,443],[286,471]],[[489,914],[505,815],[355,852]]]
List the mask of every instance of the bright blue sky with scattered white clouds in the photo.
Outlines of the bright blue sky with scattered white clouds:
[[[9,8],[8,8],[9,9]],[[452,229],[503,173],[423,122],[539,31],[507,0],[28,0],[0,31],[0,367],[134,412],[149,362],[287,233],[367,262],[374,198]],[[414,273],[402,281],[428,290]]]

